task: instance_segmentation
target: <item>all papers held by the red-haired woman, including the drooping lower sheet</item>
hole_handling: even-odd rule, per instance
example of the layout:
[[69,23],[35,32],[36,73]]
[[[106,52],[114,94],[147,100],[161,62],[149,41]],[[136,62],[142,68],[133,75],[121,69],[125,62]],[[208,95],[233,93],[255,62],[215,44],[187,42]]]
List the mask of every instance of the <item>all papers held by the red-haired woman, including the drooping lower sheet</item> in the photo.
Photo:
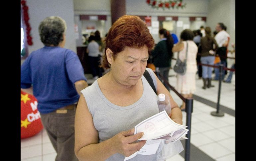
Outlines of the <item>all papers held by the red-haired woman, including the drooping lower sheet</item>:
[[[134,134],[144,132],[144,135],[138,140],[147,140],[146,144],[137,152],[125,157],[124,161],[135,157],[137,154],[152,155],[157,152],[157,149],[162,140],[176,142],[181,139],[188,139],[185,135],[188,133],[185,125],[174,122],[166,113],[162,111],[150,118],[138,123],[134,128]],[[164,143],[166,144],[166,143]]]

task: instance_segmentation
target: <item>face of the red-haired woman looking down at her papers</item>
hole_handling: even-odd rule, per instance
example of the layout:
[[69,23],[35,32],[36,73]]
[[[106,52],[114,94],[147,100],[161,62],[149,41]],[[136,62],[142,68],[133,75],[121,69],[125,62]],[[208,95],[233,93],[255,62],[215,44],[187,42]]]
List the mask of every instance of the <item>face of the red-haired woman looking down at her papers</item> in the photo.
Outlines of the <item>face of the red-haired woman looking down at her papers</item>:
[[135,85],[146,70],[148,47],[140,49],[125,47],[117,54],[116,59],[111,57],[111,73],[116,82],[122,85]]

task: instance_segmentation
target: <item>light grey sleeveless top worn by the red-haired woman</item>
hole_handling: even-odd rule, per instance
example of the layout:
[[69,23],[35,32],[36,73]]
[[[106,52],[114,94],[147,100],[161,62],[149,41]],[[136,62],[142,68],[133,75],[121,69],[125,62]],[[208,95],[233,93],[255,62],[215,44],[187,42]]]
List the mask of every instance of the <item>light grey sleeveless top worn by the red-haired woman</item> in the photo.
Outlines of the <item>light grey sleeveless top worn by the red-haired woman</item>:
[[[151,75],[157,89],[154,72],[150,68],[146,70]],[[141,98],[130,106],[117,106],[106,99],[101,92],[97,80],[81,91],[87,103],[89,112],[92,115],[93,123],[99,134],[99,142],[110,139],[121,131],[133,128],[141,121],[159,113],[157,106],[157,95],[149,85],[144,76],[141,77],[143,83],[143,94]],[[157,155],[137,154],[129,161],[156,161]],[[107,161],[123,161],[125,156],[116,153],[110,156]]]

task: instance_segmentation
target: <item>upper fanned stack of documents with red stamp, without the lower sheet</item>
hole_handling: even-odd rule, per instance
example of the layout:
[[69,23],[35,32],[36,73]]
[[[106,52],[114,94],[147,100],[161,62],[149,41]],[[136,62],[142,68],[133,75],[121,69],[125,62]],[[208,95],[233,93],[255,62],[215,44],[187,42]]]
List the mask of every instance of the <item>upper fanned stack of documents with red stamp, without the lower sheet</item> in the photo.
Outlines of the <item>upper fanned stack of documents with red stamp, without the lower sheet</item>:
[[134,134],[144,132],[139,140],[166,140],[175,142],[179,139],[187,139],[188,133],[185,125],[174,122],[166,113],[162,111],[150,118],[138,123],[134,128]]

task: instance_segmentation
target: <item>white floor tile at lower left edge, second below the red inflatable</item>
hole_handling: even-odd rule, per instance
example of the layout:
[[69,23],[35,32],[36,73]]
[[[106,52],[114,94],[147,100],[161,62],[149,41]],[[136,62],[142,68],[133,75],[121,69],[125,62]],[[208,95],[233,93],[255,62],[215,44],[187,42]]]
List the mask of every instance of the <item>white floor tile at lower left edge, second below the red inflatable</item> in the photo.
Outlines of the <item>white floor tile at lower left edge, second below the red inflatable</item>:
[[42,145],[41,144],[21,147],[20,150],[21,150],[20,151],[21,159],[31,158],[31,157],[42,155]]

